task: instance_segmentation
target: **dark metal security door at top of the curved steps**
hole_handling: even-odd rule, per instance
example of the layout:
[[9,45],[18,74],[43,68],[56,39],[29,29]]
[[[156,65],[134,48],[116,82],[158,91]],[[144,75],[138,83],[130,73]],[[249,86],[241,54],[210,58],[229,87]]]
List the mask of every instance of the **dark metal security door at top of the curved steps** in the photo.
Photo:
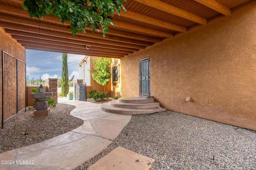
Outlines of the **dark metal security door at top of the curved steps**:
[[140,96],[150,96],[150,57],[140,60]]

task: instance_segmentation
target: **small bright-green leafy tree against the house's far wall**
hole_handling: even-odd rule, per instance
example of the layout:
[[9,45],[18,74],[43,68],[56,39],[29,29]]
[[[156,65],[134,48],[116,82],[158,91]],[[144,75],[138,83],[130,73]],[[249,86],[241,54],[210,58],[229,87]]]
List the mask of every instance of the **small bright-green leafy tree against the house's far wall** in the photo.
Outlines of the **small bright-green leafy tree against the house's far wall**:
[[104,86],[104,92],[106,92],[105,85],[108,84],[111,74],[110,64],[112,63],[111,59],[105,57],[97,57],[98,60],[94,60],[93,63],[95,66],[94,69],[96,72],[89,72],[92,74],[92,79],[96,81],[98,84]]

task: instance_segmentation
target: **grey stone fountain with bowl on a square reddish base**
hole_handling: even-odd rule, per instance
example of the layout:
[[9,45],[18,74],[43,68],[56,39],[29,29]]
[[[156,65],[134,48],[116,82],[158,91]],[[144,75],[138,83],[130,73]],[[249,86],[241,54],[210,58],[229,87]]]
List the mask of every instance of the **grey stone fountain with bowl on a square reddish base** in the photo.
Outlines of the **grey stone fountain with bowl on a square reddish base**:
[[34,117],[48,116],[50,114],[50,108],[48,108],[47,98],[52,96],[52,92],[45,92],[45,88],[41,84],[38,88],[38,93],[30,93],[31,98],[38,99],[36,103],[36,111],[34,111]]

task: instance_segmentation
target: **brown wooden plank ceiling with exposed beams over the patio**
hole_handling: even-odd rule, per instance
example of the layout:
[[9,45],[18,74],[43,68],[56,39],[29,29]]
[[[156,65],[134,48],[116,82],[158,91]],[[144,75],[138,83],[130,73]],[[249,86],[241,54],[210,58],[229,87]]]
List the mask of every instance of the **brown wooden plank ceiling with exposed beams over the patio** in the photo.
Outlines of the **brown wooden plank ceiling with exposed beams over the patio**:
[[[161,43],[192,25],[205,25],[214,16],[229,16],[231,9],[249,0],[127,0],[127,12],[113,14],[110,31],[73,36],[54,16],[30,18],[22,0],[0,0],[0,27],[26,49],[121,58]],[[89,50],[86,47],[90,47]]]

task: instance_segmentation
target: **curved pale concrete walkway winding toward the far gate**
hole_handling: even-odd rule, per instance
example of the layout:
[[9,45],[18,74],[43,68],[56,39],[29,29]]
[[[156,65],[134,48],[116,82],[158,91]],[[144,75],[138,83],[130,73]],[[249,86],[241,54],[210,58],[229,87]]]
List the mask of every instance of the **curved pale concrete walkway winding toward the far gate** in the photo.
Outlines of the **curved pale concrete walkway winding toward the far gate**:
[[[71,115],[84,120],[73,131],[0,154],[0,170],[72,170],[105,149],[130,121],[131,115],[100,110],[100,104],[58,98],[76,106]],[[6,160],[2,164],[3,160]]]

